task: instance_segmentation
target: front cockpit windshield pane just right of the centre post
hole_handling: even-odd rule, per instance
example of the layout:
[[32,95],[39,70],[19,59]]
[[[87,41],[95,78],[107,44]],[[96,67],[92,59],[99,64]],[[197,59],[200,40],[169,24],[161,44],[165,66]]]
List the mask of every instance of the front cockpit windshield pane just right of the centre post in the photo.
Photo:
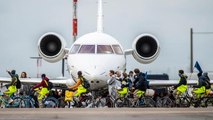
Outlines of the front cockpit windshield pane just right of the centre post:
[[97,53],[113,54],[113,50],[110,45],[97,45]]

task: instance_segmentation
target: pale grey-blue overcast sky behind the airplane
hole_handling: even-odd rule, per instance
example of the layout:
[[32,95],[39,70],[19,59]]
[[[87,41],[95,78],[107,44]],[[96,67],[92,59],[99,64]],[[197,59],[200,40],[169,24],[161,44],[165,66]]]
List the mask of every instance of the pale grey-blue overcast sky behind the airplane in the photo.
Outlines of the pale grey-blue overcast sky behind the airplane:
[[[167,73],[176,79],[178,69],[190,72],[190,29],[213,32],[212,0],[103,0],[104,32],[116,38],[124,49],[134,39],[150,33],[160,43],[159,57],[150,64],[127,56],[127,70],[140,68],[149,74]],[[46,32],[73,43],[72,0],[0,0],[0,76],[7,69],[26,71],[36,77],[61,75],[61,62],[37,67],[38,39]],[[96,31],[97,0],[78,0],[78,37]],[[193,34],[194,56],[204,71],[213,71],[213,34]],[[66,76],[69,76],[66,73]]]

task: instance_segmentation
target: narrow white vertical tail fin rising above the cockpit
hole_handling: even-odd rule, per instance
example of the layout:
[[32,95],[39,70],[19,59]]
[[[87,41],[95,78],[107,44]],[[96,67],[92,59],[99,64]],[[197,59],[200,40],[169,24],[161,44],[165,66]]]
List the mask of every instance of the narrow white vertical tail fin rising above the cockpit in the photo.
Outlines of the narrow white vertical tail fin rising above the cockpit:
[[103,2],[98,0],[97,32],[103,32]]

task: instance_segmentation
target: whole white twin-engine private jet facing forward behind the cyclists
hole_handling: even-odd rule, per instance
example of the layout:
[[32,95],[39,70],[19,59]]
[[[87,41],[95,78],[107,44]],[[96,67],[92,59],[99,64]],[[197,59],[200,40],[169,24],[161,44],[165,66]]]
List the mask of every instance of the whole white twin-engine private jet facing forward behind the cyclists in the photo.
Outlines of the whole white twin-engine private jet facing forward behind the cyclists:
[[[47,32],[38,40],[38,53],[47,62],[54,63],[67,58],[69,79],[50,79],[54,84],[73,85],[77,72],[82,71],[90,82],[91,90],[107,86],[109,70],[124,72],[126,56],[132,55],[142,64],[149,64],[157,59],[160,53],[158,39],[149,33],[138,35],[131,49],[124,50],[117,39],[103,32],[103,2],[98,0],[97,31],[78,38],[70,48],[66,47],[64,38],[55,32]],[[38,83],[35,78],[20,79],[22,83]],[[0,78],[0,82],[9,82],[9,78]],[[151,86],[175,85],[178,80],[150,80]],[[195,84],[195,81],[189,84]]]

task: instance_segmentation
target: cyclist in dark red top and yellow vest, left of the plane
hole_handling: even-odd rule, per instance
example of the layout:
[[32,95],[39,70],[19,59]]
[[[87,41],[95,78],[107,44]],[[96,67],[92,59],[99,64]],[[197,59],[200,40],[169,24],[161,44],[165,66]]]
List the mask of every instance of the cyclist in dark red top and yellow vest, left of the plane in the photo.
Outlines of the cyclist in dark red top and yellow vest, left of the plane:
[[49,90],[48,90],[49,78],[47,78],[45,74],[42,74],[41,79],[42,79],[42,81],[39,84],[33,86],[33,88],[32,88],[33,90],[38,91],[38,93],[39,93],[39,95],[38,95],[39,107],[43,107],[42,99],[47,94],[49,94]]

